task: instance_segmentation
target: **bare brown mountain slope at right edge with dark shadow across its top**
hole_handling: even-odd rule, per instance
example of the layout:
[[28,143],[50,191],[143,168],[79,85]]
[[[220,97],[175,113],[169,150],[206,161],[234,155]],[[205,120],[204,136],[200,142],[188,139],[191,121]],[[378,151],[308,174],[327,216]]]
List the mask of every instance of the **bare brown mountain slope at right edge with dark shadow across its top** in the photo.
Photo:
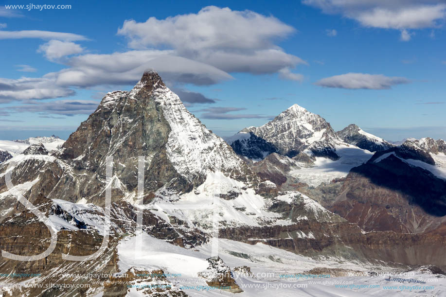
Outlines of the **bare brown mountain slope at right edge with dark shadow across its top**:
[[328,209],[366,231],[420,233],[442,227],[445,180],[393,155],[373,159],[351,170]]

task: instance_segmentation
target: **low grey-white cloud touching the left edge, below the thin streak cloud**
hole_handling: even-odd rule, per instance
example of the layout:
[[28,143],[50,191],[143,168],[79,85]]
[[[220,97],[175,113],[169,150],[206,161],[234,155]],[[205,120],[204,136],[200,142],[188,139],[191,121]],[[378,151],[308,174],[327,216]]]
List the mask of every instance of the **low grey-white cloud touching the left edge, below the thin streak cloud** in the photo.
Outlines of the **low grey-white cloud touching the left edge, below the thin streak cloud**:
[[0,78],[0,103],[14,100],[49,99],[74,95],[74,91],[56,86],[47,78]]

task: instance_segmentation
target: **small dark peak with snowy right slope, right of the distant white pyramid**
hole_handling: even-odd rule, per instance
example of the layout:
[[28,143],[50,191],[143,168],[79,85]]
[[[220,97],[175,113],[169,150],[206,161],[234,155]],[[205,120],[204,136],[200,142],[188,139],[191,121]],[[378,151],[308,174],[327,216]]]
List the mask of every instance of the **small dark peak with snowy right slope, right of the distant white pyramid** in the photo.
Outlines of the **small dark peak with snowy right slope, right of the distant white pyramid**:
[[336,135],[347,143],[371,152],[383,151],[393,146],[386,140],[363,131],[355,124],[348,125],[344,129],[336,132]]

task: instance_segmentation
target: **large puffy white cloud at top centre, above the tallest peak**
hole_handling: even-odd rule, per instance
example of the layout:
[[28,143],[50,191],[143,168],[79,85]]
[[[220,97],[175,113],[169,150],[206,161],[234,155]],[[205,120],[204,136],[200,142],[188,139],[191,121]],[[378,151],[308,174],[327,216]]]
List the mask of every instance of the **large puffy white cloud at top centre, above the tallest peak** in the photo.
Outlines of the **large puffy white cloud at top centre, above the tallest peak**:
[[270,48],[272,39],[294,31],[275,17],[208,6],[197,14],[163,20],[155,17],[143,23],[126,20],[118,34],[128,37],[129,46],[136,49],[168,45],[186,50],[256,50]]

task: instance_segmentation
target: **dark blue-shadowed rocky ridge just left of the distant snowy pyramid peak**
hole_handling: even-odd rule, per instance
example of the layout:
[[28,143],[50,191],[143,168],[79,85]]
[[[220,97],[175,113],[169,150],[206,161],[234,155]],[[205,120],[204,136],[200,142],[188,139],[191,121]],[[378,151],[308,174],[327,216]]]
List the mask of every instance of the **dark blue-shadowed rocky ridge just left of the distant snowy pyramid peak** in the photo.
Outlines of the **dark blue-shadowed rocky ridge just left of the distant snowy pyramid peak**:
[[235,140],[231,147],[238,155],[250,159],[263,159],[271,153],[277,153],[277,149],[267,140],[256,136],[250,132],[250,138]]

